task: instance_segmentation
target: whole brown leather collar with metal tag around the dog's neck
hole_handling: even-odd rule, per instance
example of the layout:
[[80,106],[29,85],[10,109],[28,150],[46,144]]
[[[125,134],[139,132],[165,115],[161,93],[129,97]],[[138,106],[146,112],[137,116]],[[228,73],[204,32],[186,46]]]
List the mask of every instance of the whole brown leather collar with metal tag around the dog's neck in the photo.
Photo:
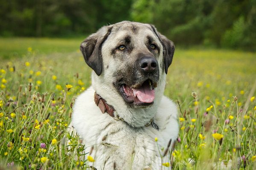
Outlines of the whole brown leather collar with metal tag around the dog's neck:
[[[114,111],[115,109],[113,108],[112,105],[108,105],[106,100],[103,99],[100,95],[98,95],[96,92],[94,93],[94,102],[95,104],[100,108],[100,111],[102,113],[108,113],[109,116],[113,117],[115,120],[123,120],[122,118],[120,118],[119,116],[115,117],[114,115]],[[124,121],[124,120],[123,120]],[[145,125],[145,126],[149,126],[152,125],[156,130],[159,130],[159,127],[156,125],[156,123],[154,122],[154,118],[152,118],[150,120],[150,123]]]

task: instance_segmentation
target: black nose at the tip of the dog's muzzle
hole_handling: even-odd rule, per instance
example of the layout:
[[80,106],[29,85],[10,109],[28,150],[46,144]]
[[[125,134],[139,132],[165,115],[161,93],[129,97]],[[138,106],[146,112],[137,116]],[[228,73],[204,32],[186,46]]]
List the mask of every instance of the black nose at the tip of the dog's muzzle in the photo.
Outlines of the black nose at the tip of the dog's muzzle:
[[154,57],[142,57],[139,61],[140,68],[147,73],[151,73],[157,68],[157,61]]

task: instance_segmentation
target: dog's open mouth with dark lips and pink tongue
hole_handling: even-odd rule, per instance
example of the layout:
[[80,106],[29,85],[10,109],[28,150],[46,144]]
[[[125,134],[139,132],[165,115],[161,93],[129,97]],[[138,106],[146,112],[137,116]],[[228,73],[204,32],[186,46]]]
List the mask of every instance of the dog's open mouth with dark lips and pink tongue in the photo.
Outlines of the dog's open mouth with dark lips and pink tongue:
[[156,82],[147,79],[142,84],[136,85],[120,85],[120,93],[125,102],[133,103],[134,105],[152,105],[155,99]]

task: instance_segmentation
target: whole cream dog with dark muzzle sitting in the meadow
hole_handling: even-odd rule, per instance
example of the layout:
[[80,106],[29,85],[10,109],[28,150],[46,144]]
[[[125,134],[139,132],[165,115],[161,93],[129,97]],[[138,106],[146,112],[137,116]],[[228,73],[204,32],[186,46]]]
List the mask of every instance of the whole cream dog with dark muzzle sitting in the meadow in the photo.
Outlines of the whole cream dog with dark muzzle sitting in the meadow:
[[94,71],[69,127],[87,146],[85,153],[94,146],[95,161],[88,164],[97,170],[161,170],[179,130],[177,107],[163,95],[174,43],[150,24],[123,21],[91,34],[80,50]]

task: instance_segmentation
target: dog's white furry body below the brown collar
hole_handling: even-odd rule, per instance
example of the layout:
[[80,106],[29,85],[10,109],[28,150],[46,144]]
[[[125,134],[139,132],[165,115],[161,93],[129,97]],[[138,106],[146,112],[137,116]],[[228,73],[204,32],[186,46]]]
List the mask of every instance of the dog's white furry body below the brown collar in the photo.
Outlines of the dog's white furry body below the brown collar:
[[[151,125],[135,128],[113,119],[107,113],[102,114],[94,103],[94,92],[90,87],[76,99],[70,125],[83,138],[85,146],[94,146],[92,156],[95,162],[89,164],[99,170],[112,170],[114,162],[119,170],[141,170],[147,166],[160,170],[162,163],[155,137],[158,138],[159,148],[166,148],[170,139],[173,142],[177,139],[176,105],[167,97],[162,97],[155,115],[159,131]],[[106,140],[102,141],[106,135]],[[87,147],[85,153],[90,150],[91,147]]]

